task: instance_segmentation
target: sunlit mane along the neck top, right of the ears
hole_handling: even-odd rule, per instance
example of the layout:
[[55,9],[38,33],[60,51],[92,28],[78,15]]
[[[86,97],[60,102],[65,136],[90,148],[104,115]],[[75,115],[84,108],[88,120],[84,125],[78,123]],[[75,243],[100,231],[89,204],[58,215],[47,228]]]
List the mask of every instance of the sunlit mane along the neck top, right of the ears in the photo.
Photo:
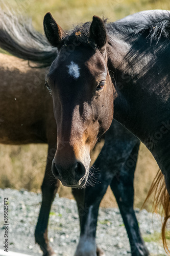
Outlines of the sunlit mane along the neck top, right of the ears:
[[[128,18],[129,17],[129,18]],[[108,24],[108,29],[115,34],[138,37],[146,34],[147,40],[158,44],[161,37],[170,37],[170,12],[163,10],[143,11],[130,15],[117,22]]]

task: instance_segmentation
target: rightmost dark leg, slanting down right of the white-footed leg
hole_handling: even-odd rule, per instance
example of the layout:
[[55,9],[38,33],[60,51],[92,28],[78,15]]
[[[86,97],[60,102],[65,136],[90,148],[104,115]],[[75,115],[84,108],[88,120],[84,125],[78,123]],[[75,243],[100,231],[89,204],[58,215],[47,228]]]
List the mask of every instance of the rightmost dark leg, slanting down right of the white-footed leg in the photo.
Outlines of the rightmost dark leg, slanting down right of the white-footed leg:
[[[120,213],[128,233],[132,256],[148,256],[149,251],[144,245],[139,226],[133,209],[134,200],[134,172],[136,167],[139,143],[137,143],[128,160],[125,162],[120,174],[115,176],[110,184],[116,198]],[[133,159],[132,159],[133,158]],[[133,161],[133,164],[132,164]],[[132,166],[132,167],[129,167]]]

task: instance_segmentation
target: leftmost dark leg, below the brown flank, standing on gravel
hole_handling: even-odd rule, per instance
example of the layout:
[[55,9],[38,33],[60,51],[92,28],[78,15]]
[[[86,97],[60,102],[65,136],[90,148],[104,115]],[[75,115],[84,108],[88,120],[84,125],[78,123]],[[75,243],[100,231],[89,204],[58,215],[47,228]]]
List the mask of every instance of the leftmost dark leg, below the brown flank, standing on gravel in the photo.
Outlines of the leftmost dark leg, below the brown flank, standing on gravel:
[[39,244],[41,250],[43,251],[43,256],[55,255],[53,249],[49,245],[47,237],[47,226],[50,209],[60,184],[59,180],[56,180],[52,175],[51,169],[53,157],[54,156],[52,156],[52,151],[49,147],[45,176],[41,186],[42,203],[37,226],[35,229],[35,241]]

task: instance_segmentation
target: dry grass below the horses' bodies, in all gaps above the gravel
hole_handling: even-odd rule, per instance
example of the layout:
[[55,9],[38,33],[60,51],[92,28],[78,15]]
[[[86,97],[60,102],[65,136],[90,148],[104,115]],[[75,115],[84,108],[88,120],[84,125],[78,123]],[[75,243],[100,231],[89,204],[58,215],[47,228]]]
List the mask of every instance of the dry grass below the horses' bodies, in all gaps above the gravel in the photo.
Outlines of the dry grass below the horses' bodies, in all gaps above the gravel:
[[[0,145],[0,187],[25,188],[31,191],[40,191],[43,180],[47,145],[10,146]],[[100,148],[96,149],[95,157]],[[94,159],[93,159],[94,160]],[[151,153],[143,144],[140,146],[135,171],[135,207],[141,207],[147,196],[150,185],[157,173],[158,166]],[[72,198],[71,189],[61,186],[61,197]],[[108,188],[102,200],[103,207],[117,207],[112,191]],[[152,200],[145,208],[151,210]]]

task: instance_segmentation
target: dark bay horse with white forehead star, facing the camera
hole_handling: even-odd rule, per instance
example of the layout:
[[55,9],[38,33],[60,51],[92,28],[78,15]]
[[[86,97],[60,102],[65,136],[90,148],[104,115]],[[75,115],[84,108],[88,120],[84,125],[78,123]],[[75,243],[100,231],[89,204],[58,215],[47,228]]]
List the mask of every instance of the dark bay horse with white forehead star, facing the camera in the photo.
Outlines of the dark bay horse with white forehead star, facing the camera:
[[[52,172],[64,185],[86,184],[90,151],[109,129],[114,111],[114,118],[149,148],[170,194],[169,27],[170,13],[163,10],[108,24],[93,16],[69,33],[45,15],[46,37],[59,51],[46,79],[60,148]],[[162,198],[165,222],[168,194]]]

